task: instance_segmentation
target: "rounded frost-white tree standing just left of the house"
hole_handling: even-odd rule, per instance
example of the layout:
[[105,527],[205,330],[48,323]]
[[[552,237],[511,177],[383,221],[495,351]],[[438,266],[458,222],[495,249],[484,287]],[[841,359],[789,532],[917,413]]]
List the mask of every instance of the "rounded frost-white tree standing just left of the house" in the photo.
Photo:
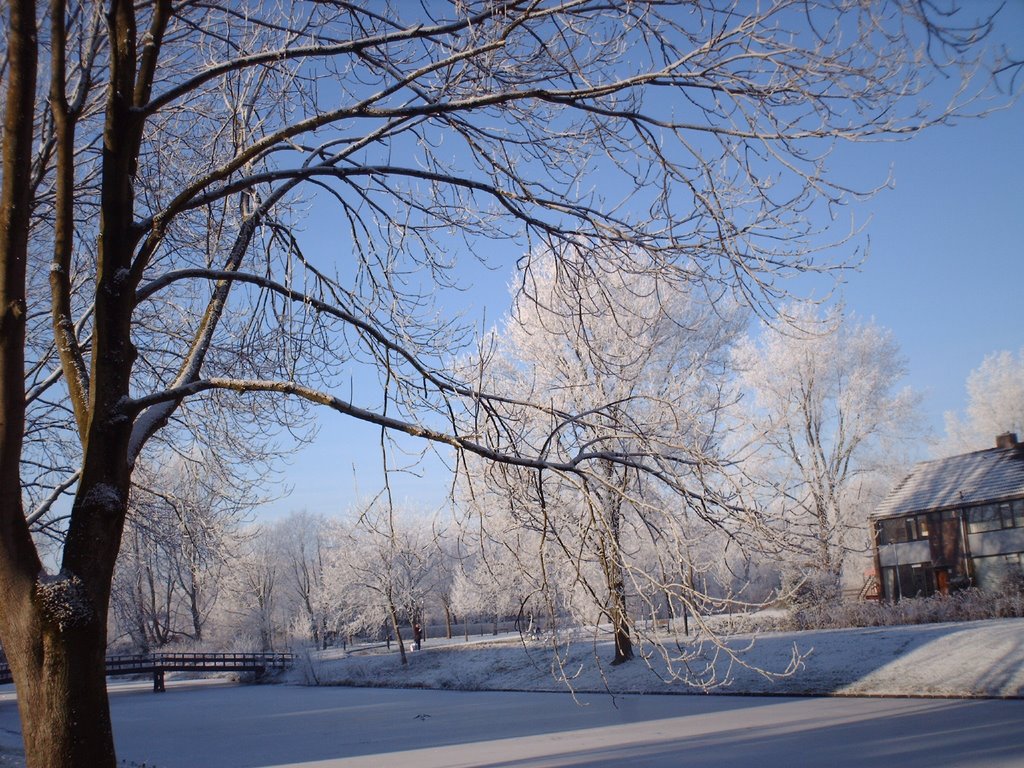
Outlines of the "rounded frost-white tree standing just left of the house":
[[[847,554],[867,547],[866,517],[920,438],[920,397],[901,387],[892,334],[814,304],[762,324],[734,353],[750,453],[748,476],[774,509],[796,567],[835,595]],[[884,478],[879,482],[879,478]]]

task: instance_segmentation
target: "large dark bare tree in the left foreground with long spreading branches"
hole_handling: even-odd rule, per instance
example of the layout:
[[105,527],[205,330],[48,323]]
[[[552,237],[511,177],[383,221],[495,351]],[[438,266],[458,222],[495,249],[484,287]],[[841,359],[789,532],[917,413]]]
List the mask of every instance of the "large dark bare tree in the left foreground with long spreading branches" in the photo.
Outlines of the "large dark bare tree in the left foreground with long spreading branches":
[[[827,268],[814,217],[849,197],[829,146],[945,121],[962,91],[918,96],[988,30],[898,0],[11,0],[3,18],[0,636],[30,763],[99,768],[111,581],[154,440],[224,414],[262,439],[319,404],[545,468],[462,430],[496,400],[452,375],[465,337],[431,298],[453,254],[631,244],[767,309]],[[297,226],[313,204],[331,246]],[[603,484],[624,461],[558,468]],[[33,525],[61,540],[58,573]]]

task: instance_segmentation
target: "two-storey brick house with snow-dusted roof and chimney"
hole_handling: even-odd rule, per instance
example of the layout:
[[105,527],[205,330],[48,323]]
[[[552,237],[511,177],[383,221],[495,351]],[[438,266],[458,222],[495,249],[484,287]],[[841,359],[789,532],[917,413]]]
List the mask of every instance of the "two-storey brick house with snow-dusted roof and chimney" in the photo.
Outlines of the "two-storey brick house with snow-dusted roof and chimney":
[[1024,574],[1024,444],[922,462],[870,516],[883,600]]

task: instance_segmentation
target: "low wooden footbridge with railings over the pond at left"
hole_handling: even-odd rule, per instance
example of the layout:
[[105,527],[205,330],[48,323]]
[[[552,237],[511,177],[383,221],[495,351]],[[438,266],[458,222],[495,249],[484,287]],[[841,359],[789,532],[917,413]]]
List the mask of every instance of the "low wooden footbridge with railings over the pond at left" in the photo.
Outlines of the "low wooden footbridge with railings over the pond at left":
[[[153,690],[165,690],[167,672],[253,672],[260,677],[268,670],[292,665],[292,653],[139,653],[106,657],[106,675],[153,675]],[[13,682],[10,667],[0,660],[0,684]]]

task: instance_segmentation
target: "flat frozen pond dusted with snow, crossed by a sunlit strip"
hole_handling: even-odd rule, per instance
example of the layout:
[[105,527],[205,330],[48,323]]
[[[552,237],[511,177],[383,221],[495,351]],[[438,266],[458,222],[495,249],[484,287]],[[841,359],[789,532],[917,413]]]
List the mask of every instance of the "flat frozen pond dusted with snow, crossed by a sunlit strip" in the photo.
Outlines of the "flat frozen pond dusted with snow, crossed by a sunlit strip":
[[[4,686],[7,688],[7,686]],[[1024,701],[112,686],[146,768],[1024,766]],[[18,729],[0,694],[0,743]]]

